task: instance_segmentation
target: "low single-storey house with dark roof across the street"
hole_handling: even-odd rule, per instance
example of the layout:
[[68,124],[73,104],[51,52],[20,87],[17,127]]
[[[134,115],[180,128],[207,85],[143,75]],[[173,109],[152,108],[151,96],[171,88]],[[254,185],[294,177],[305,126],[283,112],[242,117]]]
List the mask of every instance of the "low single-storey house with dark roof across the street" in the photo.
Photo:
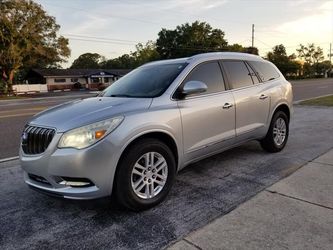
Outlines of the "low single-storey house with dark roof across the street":
[[126,75],[128,69],[31,69],[28,84],[46,84],[48,91],[103,89]]

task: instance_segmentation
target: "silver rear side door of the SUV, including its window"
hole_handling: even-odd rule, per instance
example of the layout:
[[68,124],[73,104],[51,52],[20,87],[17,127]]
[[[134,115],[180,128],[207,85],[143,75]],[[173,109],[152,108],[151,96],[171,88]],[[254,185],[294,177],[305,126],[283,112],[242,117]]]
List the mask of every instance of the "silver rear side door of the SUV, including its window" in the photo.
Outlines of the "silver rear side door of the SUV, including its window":
[[261,134],[269,109],[269,91],[259,82],[256,74],[244,61],[222,62],[236,105],[236,135],[250,138]]

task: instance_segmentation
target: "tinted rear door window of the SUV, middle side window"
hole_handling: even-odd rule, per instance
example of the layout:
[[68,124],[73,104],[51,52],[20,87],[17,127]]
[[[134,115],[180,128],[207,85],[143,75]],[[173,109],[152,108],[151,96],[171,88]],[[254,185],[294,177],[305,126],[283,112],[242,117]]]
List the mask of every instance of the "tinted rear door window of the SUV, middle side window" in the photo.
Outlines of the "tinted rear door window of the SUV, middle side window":
[[223,66],[227,71],[233,89],[253,85],[251,74],[242,61],[224,61]]

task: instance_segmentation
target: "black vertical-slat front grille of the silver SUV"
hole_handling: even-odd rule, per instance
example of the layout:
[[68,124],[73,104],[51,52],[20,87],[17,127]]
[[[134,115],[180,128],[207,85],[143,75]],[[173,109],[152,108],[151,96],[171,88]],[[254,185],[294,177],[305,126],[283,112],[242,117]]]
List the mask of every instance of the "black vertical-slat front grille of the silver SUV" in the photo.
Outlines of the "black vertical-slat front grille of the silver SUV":
[[26,154],[41,154],[51,143],[54,129],[26,126],[22,135],[22,149]]

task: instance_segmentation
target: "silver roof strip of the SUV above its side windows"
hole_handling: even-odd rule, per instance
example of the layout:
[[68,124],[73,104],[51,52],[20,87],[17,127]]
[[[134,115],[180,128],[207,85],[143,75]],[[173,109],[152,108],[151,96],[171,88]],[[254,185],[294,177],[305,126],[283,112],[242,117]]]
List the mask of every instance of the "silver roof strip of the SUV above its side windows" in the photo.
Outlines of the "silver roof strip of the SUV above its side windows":
[[248,54],[248,53],[240,53],[240,52],[211,52],[211,53],[202,53],[198,55],[194,55],[191,57],[185,58],[177,58],[177,59],[167,59],[160,61],[153,61],[144,64],[144,66],[148,65],[162,65],[162,64],[172,64],[172,63],[192,63],[197,61],[205,61],[205,60],[251,60],[251,61],[265,61],[263,58],[257,55]]

